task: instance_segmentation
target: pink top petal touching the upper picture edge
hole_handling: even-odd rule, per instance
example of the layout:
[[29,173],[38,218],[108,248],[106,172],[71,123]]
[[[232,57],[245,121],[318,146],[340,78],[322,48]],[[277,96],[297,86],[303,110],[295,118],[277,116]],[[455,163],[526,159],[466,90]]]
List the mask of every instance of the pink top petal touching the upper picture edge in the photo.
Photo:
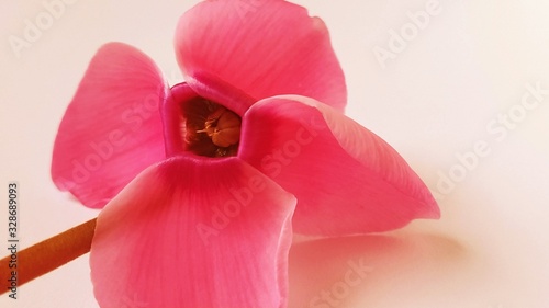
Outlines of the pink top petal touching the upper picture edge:
[[203,1],[179,20],[176,54],[189,84],[214,101],[204,85],[228,83],[256,101],[300,94],[340,111],[347,103],[324,22],[287,1]]

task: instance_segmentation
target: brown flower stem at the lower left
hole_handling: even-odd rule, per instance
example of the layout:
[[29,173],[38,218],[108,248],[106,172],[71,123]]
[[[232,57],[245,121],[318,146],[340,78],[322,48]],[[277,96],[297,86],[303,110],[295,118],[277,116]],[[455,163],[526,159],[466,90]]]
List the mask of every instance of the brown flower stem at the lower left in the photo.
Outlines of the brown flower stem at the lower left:
[[[0,294],[10,290],[12,276],[19,287],[89,252],[94,230],[96,218],[0,260]],[[9,242],[8,248],[11,244],[19,249],[18,242]],[[16,269],[12,260],[16,261]]]

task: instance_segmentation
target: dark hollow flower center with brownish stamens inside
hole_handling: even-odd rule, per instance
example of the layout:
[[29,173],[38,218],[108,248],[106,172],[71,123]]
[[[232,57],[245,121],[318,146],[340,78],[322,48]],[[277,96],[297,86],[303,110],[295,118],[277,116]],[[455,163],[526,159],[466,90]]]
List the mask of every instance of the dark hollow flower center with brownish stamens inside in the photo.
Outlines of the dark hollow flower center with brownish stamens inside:
[[240,141],[240,117],[203,98],[182,106],[186,148],[205,157],[236,156]]

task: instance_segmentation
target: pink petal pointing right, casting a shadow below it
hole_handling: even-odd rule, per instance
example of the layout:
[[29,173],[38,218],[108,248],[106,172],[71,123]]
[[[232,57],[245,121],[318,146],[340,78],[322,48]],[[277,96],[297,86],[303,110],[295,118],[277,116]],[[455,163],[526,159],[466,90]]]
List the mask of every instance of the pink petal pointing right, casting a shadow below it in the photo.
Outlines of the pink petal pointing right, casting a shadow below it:
[[439,217],[428,189],[391,146],[312,99],[258,102],[242,134],[238,157],[298,197],[295,232],[385,231]]

